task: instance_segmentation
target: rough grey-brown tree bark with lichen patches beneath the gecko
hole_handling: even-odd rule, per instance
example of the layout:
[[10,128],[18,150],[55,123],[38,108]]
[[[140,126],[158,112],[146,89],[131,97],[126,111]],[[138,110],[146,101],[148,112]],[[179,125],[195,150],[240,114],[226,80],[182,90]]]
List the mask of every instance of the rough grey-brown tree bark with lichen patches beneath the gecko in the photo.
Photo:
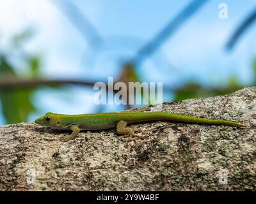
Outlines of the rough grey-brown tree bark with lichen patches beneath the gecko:
[[67,131],[34,123],[1,126],[0,189],[256,190],[256,87],[164,103],[163,111],[234,120],[246,128],[156,121],[132,124],[143,140],[127,142],[110,129],[63,142]]

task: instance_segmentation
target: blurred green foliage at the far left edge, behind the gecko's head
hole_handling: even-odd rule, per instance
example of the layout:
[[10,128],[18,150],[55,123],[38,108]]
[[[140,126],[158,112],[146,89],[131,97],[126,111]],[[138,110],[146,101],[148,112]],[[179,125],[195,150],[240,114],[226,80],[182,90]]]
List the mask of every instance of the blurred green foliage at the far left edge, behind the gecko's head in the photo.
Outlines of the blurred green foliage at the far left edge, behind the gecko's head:
[[[31,37],[30,31],[25,31],[17,36],[14,36],[12,39],[12,47],[15,50],[22,50],[22,42],[28,40]],[[13,66],[8,61],[8,55],[0,56],[0,80],[1,78],[22,78],[27,77],[36,77],[38,75],[38,69],[40,68],[40,58],[37,56],[30,56],[24,54],[19,56],[26,68],[24,72],[18,72],[17,67]],[[20,60],[20,59],[19,59]],[[0,101],[2,106],[2,112],[4,119],[7,124],[14,124],[18,122],[28,121],[29,113],[35,111],[35,106],[31,101],[31,96],[35,92],[35,88],[26,88],[26,89],[0,89]]]

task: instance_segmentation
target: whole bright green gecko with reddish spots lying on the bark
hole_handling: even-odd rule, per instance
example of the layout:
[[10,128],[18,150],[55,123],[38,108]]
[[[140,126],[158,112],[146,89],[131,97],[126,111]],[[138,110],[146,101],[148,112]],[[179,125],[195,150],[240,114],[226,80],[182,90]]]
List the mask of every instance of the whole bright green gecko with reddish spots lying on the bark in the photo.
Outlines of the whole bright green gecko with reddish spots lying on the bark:
[[67,141],[78,136],[80,130],[100,130],[116,128],[116,132],[126,136],[136,135],[137,129],[127,128],[127,124],[136,122],[145,122],[152,120],[171,120],[177,122],[193,122],[201,124],[225,124],[229,126],[243,127],[238,122],[229,120],[203,119],[191,117],[188,115],[179,115],[168,112],[116,112],[116,113],[93,113],[83,115],[64,115],[58,113],[46,113],[44,116],[35,120],[37,124],[55,129],[71,130],[70,136],[64,136],[63,140]]

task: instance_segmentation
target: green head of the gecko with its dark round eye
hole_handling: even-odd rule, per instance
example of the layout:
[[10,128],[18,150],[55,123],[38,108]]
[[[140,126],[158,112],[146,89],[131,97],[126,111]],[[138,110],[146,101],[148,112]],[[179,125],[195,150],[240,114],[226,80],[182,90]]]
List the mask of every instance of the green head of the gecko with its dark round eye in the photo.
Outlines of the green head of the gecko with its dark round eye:
[[58,115],[57,113],[46,113],[44,116],[36,119],[35,123],[41,126],[58,128],[58,126],[60,126],[60,117],[58,117]]

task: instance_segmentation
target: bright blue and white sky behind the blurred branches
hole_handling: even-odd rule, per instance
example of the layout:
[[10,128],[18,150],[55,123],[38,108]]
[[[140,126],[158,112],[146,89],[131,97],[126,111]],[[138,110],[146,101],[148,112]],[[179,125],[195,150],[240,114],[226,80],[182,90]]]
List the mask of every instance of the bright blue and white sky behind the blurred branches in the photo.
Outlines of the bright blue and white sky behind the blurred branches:
[[[95,55],[88,43],[50,0],[0,1],[0,52],[7,52],[10,36],[31,27],[35,36],[25,50],[42,55],[42,75],[106,81],[108,77],[117,77],[120,62],[135,54],[190,1],[72,2],[104,38],[105,47],[98,53],[95,66],[90,62]],[[220,3],[228,6],[227,19],[218,17]],[[193,78],[203,85],[224,85],[234,75],[245,85],[251,82],[256,26],[232,52],[225,52],[224,45],[255,5],[255,0],[209,1],[141,65],[143,80],[179,85]],[[172,71],[166,65],[169,62],[178,71]],[[92,96],[93,92],[84,87],[38,91],[33,100],[40,111],[33,113],[29,120],[45,112],[93,112]],[[172,96],[165,96],[164,100],[170,101]],[[120,111],[122,107],[111,106],[107,110]],[[2,117],[0,124],[4,124]]]

